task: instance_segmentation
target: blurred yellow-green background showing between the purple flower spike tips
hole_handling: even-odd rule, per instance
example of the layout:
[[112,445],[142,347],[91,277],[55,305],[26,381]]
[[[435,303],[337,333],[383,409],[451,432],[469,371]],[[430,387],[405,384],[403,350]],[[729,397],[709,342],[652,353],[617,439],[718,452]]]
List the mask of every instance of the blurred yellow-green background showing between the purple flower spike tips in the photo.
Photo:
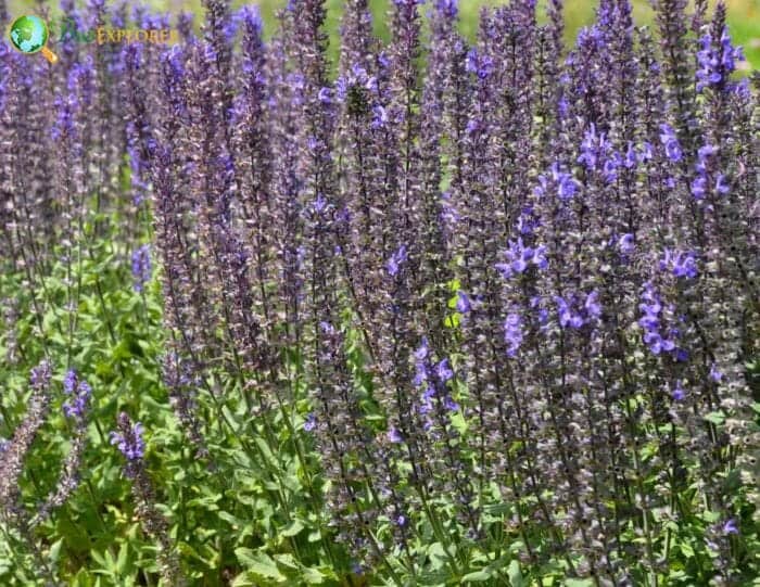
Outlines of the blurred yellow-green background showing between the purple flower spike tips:
[[[113,0],[111,0],[113,1]],[[150,0],[148,3],[161,9],[177,12],[179,10],[191,10],[200,13],[200,0],[182,1],[182,0]],[[275,12],[282,8],[287,0],[259,0],[258,2],[233,1],[233,7],[239,7],[245,3],[258,4],[262,15],[266,22],[268,31],[271,30]],[[390,0],[370,0],[372,13],[375,16],[375,27],[377,33],[387,38],[388,36],[388,17]],[[472,37],[478,26],[478,11],[483,5],[497,5],[505,3],[504,0],[459,0],[459,11],[461,14],[461,30],[468,37]],[[543,5],[545,0],[540,0]],[[428,1],[430,4],[430,1]],[[572,42],[578,29],[587,25],[593,21],[596,2],[587,0],[567,0],[566,1],[566,22],[567,22],[567,40]],[[710,2],[714,5],[714,1]],[[729,25],[731,35],[736,44],[740,44],[745,49],[747,63],[745,69],[760,67],[760,0],[727,0],[729,7]],[[10,5],[13,15],[21,15],[25,11],[33,11],[37,2],[30,0],[11,0]],[[51,5],[55,7],[53,2]],[[338,22],[340,21],[342,0],[328,0],[328,27],[334,36],[338,30]],[[647,0],[633,0],[634,18],[637,24],[648,24],[653,20],[653,11]],[[543,10],[540,11],[543,14]]]

